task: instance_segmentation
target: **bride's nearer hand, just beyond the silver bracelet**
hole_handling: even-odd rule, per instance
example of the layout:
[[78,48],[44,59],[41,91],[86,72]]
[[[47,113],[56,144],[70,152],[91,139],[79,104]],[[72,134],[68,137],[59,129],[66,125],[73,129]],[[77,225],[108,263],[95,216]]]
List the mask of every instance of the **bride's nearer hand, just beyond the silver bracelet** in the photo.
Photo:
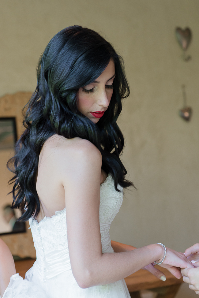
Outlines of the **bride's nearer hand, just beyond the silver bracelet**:
[[[157,260],[156,262],[161,262],[162,259]],[[167,254],[161,267],[167,268],[176,278],[180,279],[182,274],[180,273],[180,268],[194,268],[193,264],[186,258],[186,256],[182,252],[178,252],[172,250],[171,248],[167,248]],[[176,268],[177,267],[177,268]]]

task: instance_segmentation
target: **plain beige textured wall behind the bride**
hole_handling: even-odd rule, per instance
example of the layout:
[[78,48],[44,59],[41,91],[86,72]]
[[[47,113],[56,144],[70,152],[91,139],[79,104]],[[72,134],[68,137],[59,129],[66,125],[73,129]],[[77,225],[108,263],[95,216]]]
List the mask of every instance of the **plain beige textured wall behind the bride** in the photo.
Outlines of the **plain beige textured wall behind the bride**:
[[[34,90],[39,55],[69,25],[101,32],[125,60],[131,95],[120,118],[122,158],[138,190],[126,193],[111,227],[114,240],[160,241],[180,251],[198,241],[198,11],[198,0],[0,3],[0,95]],[[176,26],[193,31],[189,62],[182,61]],[[190,123],[178,116],[182,84],[193,108]]]

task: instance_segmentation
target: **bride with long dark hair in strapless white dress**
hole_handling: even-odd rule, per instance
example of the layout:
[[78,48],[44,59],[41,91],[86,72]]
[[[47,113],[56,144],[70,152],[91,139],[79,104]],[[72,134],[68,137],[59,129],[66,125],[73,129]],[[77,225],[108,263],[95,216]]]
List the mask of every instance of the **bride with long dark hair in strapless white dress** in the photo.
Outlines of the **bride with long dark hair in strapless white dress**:
[[25,210],[37,259],[23,280],[1,240],[1,297],[130,297],[124,278],[143,267],[162,280],[152,263],[177,278],[176,267],[193,268],[163,244],[111,242],[123,188],[133,185],[119,158],[124,138],[116,122],[128,95],[122,58],[98,33],[71,26],[48,43],[26,129],[8,162],[13,207]]

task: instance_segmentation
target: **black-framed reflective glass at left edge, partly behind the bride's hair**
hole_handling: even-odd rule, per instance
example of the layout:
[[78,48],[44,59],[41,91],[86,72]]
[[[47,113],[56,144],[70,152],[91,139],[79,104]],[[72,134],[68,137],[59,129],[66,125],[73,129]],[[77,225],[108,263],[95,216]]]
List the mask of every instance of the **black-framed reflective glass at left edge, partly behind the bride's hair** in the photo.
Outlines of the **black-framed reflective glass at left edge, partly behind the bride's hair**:
[[6,163],[14,155],[14,146],[17,141],[15,117],[0,117],[0,235],[9,233],[24,233],[25,222],[17,222],[21,212],[12,209],[12,185],[8,185],[13,176]]

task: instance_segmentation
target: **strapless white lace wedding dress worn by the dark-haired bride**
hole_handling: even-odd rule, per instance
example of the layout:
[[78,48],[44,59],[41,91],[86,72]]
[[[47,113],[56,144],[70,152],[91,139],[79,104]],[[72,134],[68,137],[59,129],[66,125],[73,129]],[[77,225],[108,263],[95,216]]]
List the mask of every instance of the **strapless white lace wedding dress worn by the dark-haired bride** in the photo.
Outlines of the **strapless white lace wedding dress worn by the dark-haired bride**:
[[[100,186],[100,232],[103,252],[114,252],[109,229],[123,199],[109,174]],[[125,281],[87,289],[78,286],[73,277],[67,242],[66,210],[44,217],[39,223],[29,220],[37,259],[25,279],[14,274],[2,298],[130,298]]]

